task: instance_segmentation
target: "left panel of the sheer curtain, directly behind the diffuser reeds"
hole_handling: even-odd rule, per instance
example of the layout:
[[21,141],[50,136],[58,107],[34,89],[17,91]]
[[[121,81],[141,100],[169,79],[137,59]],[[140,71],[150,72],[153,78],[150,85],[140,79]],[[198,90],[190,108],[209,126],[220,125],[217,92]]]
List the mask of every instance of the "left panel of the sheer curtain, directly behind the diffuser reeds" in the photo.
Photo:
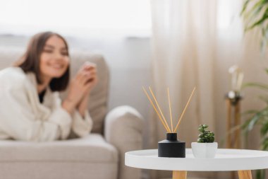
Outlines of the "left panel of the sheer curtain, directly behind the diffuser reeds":
[[[214,0],[152,1],[152,65],[157,97],[166,103],[169,86],[173,115],[178,119],[191,91],[197,87],[178,129],[188,146],[196,140],[199,124],[206,123],[214,130],[216,3]],[[164,106],[169,114],[168,105]],[[158,134],[158,139],[164,138],[161,124]]]

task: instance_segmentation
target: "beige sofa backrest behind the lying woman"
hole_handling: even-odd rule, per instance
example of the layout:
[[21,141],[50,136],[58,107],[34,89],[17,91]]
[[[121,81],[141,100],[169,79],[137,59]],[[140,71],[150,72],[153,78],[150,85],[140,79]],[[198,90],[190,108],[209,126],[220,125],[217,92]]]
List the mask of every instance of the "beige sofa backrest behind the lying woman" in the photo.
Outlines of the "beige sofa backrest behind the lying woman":
[[[0,48],[0,70],[10,67],[23,55],[22,48]],[[88,61],[97,64],[97,78],[99,82],[90,94],[89,111],[94,122],[92,132],[103,134],[104,117],[107,112],[107,98],[109,90],[109,69],[102,55],[88,52],[71,51],[71,76],[81,65]],[[61,93],[61,98],[66,96],[66,92]]]

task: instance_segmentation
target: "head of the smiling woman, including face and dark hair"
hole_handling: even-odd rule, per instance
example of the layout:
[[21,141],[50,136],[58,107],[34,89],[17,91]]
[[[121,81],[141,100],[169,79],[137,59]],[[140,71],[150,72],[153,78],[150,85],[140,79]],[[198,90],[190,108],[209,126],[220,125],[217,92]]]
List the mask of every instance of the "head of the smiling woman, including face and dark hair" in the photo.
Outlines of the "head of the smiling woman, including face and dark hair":
[[61,35],[53,33],[35,35],[20,61],[18,66],[23,71],[26,73],[32,71],[36,74],[38,93],[43,91],[50,81],[52,91],[66,89],[69,79],[68,45]]

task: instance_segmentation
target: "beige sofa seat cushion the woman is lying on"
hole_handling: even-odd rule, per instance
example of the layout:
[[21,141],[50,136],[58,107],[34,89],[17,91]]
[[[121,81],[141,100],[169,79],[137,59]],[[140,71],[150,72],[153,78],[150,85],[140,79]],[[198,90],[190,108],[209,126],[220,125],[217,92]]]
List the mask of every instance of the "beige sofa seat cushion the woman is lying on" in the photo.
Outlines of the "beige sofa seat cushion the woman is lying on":
[[0,141],[0,161],[117,163],[118,154],[100,134],[89,134],[80,139],[54,142]]

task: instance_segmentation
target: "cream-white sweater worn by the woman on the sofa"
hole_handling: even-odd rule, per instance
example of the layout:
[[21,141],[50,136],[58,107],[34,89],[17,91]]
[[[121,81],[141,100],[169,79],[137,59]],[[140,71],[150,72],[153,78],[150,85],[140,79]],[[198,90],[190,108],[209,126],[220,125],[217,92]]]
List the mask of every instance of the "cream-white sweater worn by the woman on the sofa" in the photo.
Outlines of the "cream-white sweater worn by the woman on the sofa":
[[90,133],[92,119],[75,110],[73,115],[61,108],[58,92],[49,88],[39,102],[35,74],[20,67],[0,71],[0,139],[52,141],[66,139],[71,130],[79,137]]

